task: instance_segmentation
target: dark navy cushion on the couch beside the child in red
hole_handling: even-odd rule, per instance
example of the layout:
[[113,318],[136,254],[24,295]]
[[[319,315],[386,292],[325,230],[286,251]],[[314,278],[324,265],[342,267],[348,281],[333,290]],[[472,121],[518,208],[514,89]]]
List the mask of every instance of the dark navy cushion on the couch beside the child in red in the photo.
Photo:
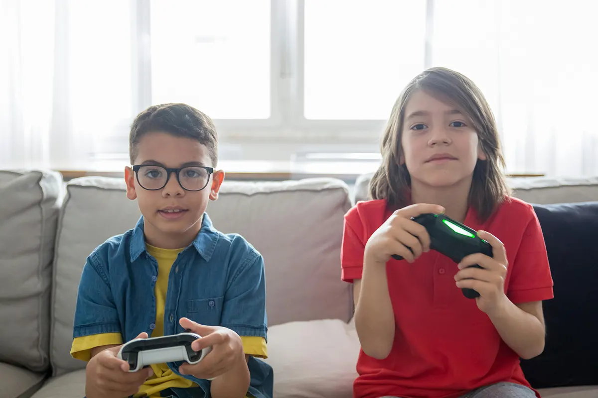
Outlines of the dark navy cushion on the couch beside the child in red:
[[544,353],[521,366],[538,388],[598,384],[598,202],[534,209],[547,246],[554,299],[544,303]]

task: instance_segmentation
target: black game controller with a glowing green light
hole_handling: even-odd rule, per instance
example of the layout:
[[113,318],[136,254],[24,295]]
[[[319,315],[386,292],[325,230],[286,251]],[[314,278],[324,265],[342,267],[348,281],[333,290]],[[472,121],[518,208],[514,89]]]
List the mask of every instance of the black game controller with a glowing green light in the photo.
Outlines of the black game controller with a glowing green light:
[[[474,253],[492,257],[490,243],[478,237],[478,234],[468,226],[464,226],[444,214],[420,214],[411,220],[421,224],[428,231],[432,250],[446,255],[457,264],[463,260],[463,257]],[[410,247],[407,248],[411,250]],[[396,254],[393,254],[392,258],[402,260],[402,257]],[[470,267],[483,268],[478,264]],[[474,289],[461,289],[461,291],[467,298],[480,297],[480,294]]]

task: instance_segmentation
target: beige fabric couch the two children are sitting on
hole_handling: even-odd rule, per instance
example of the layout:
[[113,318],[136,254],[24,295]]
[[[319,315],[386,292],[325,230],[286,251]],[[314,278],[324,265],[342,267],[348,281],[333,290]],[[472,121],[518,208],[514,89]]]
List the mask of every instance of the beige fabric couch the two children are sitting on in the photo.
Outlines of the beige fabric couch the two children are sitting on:
[[[581,191],[596,200],[598,181]],[[579,192],[573,184],[551,195],[584,200]],[[267,361],[276,397],[352,397],[359,343],[339,264],[343,215],[352,202],[342,181],[313,179],[227,182],[209,205],[219,230],[242,234],[266,259]],[[121,180],[65,184],[55,172],[0,171],[0,398],[84,396],[85,363],[69,355],[81,270],[93,248],[138,217]],[[598,397],[598,387],[544,396]]]

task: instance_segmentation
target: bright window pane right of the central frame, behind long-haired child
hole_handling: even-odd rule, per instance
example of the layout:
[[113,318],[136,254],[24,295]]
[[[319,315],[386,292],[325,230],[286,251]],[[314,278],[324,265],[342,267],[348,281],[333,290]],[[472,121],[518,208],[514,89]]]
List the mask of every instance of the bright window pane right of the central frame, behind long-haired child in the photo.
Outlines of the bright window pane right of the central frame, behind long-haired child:
[[424,68],[425,35],[425,1],[306,1],[304,117],[388,118]]

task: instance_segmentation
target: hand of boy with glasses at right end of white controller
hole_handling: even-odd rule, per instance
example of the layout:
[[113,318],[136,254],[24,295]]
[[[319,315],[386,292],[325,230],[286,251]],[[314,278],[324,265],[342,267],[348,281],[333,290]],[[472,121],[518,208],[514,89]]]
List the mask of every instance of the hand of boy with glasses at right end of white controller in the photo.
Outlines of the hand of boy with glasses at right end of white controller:
[[193,375],[199,379],[213,379],[245,362],[243,342],[239,335],[220,326],[204,326],[187,318],[181,318],[179,323],[184,329],[199,334],[202,338],[191,344],[194,351],[212,346],[212,351],[200,363],[191,365],[184,363],[179,366],[182,375]]

